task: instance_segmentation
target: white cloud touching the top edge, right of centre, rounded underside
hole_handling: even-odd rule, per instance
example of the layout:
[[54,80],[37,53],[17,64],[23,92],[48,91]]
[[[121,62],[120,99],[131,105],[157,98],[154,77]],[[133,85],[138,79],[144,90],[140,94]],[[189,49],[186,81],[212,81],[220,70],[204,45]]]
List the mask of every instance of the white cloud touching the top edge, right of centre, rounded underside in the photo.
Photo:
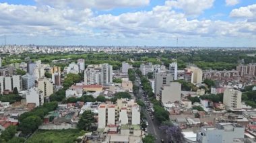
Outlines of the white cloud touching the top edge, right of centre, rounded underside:
[[200,15],[205,9],[213,7],[215,0],[169,0],[166,5],[183,9],[187,15]]

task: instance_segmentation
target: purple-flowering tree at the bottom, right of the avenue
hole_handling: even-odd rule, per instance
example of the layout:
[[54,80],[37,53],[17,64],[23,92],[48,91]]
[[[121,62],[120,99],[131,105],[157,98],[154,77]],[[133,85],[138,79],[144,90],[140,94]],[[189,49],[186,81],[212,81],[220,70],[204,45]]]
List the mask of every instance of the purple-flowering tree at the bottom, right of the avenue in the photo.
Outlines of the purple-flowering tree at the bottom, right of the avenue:
[[170,143],[182,143],[183,142],[184,136],[179,127],[177,127],[177,126],[161,126],[160,129],[165,132],[168,142],[170,142]]

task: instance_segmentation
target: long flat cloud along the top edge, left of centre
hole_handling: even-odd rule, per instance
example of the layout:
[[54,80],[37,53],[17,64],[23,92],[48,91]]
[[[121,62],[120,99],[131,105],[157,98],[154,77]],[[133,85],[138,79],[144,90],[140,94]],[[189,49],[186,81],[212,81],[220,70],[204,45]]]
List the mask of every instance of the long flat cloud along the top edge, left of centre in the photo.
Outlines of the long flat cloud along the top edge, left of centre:
[[150,0],[36,0],[39,5],[72,9],[113,9],[119,7],[142,7],[150,4]]

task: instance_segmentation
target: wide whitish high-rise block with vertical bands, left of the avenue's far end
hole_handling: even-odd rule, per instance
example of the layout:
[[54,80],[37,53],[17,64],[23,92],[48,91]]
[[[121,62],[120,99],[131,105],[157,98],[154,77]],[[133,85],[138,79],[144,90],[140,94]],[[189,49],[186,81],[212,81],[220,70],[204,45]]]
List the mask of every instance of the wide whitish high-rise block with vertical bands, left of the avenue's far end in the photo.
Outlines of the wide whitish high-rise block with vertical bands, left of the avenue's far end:
[[84,70],[84,85],[107,85],[113,83],[113,66],[110,64],[89,65]]

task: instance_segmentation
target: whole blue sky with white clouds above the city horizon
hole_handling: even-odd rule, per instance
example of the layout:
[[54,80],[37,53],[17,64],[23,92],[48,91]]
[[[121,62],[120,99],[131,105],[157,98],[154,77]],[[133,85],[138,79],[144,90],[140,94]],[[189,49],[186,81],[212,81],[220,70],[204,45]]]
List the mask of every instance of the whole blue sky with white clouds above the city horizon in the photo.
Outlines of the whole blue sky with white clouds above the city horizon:
[[0,0],[0,45],[5,40],[256,47],[256,0]]

